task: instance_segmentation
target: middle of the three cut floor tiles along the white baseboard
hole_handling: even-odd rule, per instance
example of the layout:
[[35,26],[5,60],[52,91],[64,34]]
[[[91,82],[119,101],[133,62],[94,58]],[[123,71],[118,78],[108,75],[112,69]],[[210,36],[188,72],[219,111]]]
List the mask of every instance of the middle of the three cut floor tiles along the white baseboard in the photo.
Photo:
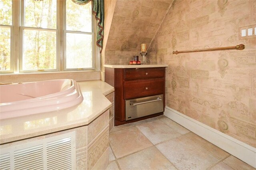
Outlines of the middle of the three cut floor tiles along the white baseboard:
[[230,155],[228,152],[226,152],[226,151],[220,149],[219,147],[213,145],[212,143],[206,141],[205,139],[196,135],[195,133],[190,132],[190,133],[187,133],[185,136],[188,137],[194,143],[196,143],[196,145],[207,150],[208,152],[210,152],[210,154],[212,154],[213,156],[215,156],[216,158],[218,158],[220,160],[222,160]]

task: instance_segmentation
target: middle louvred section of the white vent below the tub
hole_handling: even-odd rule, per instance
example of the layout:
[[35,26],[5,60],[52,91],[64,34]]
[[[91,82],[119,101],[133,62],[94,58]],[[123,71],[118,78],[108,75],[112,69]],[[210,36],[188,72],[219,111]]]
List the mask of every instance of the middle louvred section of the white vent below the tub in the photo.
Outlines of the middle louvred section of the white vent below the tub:
[[14,151],[14,169],[44,169],[43,145]]

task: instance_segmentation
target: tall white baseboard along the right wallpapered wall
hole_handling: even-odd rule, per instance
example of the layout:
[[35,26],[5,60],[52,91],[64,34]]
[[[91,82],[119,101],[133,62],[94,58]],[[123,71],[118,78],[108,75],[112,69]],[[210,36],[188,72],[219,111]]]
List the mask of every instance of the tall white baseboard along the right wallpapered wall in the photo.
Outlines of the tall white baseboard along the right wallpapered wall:
[[165,107],[164,115],[256,168],[256,148],[196,121],[170,107]]

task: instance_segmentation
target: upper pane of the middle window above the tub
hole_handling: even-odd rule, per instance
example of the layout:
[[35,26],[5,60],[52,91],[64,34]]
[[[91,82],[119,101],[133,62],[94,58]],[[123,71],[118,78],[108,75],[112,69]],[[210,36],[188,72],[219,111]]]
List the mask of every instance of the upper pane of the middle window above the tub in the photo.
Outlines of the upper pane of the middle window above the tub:
[[25,0],[25,26],[56,29],[56,0]]

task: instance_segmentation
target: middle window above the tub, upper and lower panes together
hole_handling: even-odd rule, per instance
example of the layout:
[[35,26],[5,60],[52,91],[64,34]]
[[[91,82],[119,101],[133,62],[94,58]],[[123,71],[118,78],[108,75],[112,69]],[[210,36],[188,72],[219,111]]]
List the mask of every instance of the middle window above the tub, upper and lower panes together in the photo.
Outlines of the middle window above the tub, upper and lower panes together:
[[20,70],[56,70],[57,0],[24,0],[21,5]]

